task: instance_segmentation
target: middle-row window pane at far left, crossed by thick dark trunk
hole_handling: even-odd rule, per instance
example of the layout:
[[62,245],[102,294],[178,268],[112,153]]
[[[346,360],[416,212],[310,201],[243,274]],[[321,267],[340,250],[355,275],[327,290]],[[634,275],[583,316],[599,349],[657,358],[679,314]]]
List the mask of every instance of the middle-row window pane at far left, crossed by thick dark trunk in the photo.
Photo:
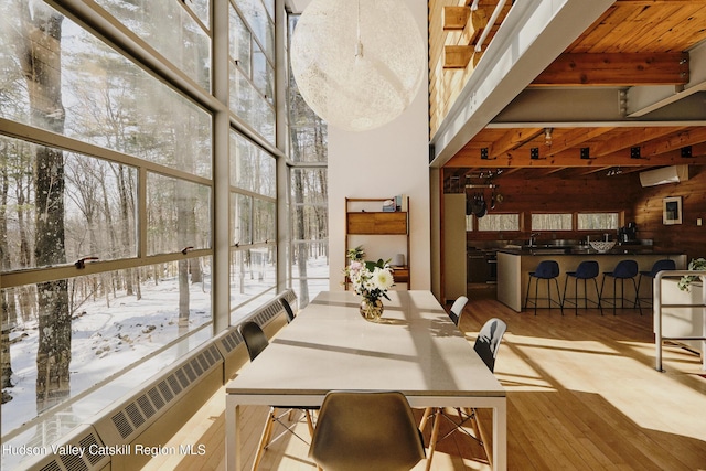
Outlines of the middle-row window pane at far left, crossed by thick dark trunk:
[[[73,263],[82,257],[113,260],[137,256],[137,169],[76,152],[62,152],[0,136],[3,159],[3,271]],[[63,163],[62,244],[38,247],[41,218],[32,169],[42,156]],[[57,240],[58,242],[58,240]],[[42,251],[36,257],[36,250]]]

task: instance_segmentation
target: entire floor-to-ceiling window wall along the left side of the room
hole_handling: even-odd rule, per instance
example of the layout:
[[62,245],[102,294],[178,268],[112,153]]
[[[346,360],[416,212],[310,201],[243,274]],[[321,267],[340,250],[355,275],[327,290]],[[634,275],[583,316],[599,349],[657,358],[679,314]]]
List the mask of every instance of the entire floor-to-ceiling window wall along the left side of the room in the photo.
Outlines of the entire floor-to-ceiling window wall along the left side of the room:
[[[184,354],[216,318],[235,324],[282,288],[275,1],[54,3],[0,2],[0,432],[28,445],[105,407],[76,407],[89,392],[128,371],[138,385],[169,361],[140,365],[182,343]],[[214,90],[218,14],[227,103]],[[224,312],[216,161],[228,169]]]

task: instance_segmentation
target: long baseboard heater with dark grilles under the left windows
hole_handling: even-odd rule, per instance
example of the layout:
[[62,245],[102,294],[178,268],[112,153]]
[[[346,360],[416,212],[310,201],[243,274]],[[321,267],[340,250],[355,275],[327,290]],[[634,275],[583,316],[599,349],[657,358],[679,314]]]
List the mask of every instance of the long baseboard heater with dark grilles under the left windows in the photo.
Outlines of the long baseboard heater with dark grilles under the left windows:
[[[292,290],[284,291],[247,320],[265,328],[284,313],[280,298],[293,303],[297,296]],[[103,410],[90,424],[74,428],[47,446],[52,452],[24,460],[20,467],[39,471],[139,469],[150,454],[139,453],[138,447],[165,442],[247,361],[244,345],[238,349],[242,343],[237,329],[227,329],[160,371],[140,390],[111,403],[110,409]],[[85,450],[83,454],[74,452],[81,449]]]

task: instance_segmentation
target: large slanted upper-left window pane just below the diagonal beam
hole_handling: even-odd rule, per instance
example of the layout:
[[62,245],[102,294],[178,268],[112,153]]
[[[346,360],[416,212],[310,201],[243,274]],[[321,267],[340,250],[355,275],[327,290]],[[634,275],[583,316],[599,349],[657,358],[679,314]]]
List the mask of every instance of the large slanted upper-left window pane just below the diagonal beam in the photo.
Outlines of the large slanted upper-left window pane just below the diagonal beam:
[[[21,43],[26,47],[21,52],[15,35],[3,31],[0,38],[7,77],[2,118],[211,178],[206,111],[55,10],[31,3],[36,7],[31,19],[21,7],[26,2],[7,1],[3,30],[18,31],[30,42]],[[55,30],[31,36],[32,28],[44,29],[33,22],[54,22]],[[40,54],[45,47],[51,49],[42,61],[22,60],[22,54]],[[32,81],[28,73],[34,74]]]

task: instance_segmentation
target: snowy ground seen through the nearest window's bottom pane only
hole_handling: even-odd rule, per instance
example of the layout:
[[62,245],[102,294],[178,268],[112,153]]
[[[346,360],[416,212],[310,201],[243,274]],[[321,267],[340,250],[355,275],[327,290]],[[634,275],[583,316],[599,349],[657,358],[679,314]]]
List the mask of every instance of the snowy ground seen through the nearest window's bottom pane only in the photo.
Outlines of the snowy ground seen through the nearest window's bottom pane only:
[[[179,325],[179,282],[165,279],[159,285],[145,283],[142,299],[119,296],[86,302],[82,314],[72,322],[71,394],[90,386],[142,360],[179,335],[211,322],[211,286],[191,285],[190,317]],[[6,389],[12,400],[2,407],[2,433],[36,416],[35,381],[38,323],[18,325],[11,333],[12,383]]]

